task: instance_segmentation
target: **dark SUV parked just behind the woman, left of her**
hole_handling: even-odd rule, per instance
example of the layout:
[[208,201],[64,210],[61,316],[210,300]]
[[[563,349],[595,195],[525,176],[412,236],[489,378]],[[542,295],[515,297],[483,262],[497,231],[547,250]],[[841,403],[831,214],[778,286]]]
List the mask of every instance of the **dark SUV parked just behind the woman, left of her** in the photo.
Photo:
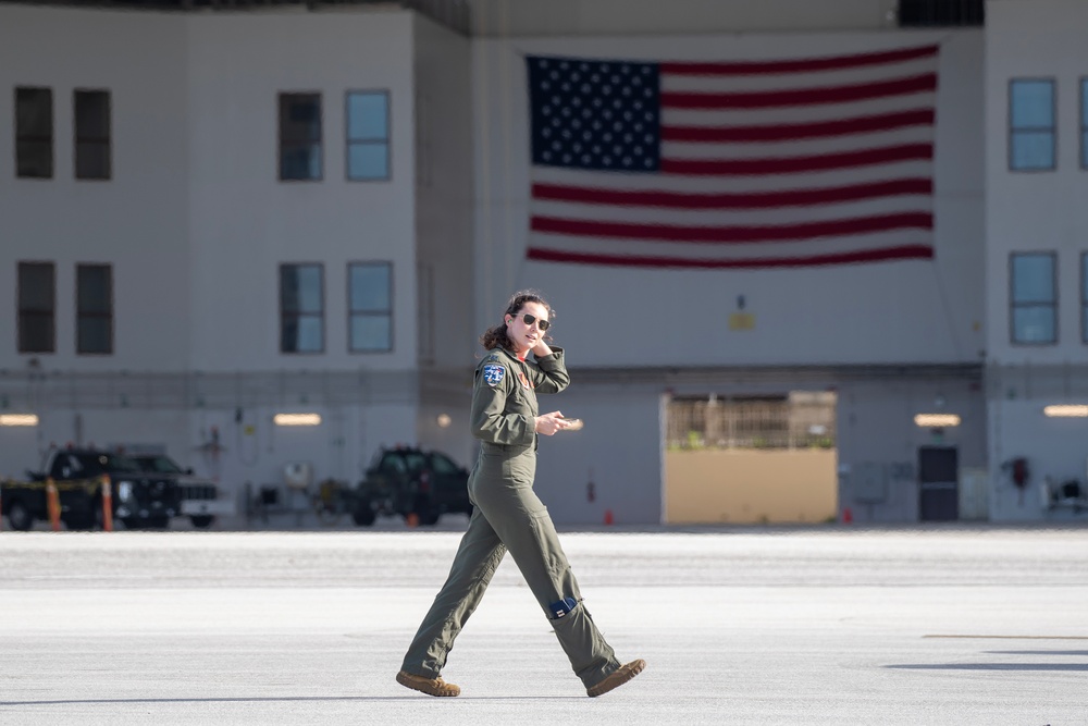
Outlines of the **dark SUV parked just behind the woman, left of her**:
[[364,527],[380,514],[434,525],[447,513],[472,514],[468,481],[468,469],[445,454],[382,448],[351,493],[351,518]]

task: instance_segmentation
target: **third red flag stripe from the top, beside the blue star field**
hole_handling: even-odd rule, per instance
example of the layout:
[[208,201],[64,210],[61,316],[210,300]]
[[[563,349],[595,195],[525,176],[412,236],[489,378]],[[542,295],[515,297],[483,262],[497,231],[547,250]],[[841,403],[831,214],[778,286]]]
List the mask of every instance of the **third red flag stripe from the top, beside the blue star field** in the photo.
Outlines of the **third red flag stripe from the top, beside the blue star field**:
[[934,116],[932,109],[915,109],[837,121],[774,126],[662,126],[662,140],[698,144],[707,141],[787,141],[801,138],[849,136],[910,126],[932,126]]

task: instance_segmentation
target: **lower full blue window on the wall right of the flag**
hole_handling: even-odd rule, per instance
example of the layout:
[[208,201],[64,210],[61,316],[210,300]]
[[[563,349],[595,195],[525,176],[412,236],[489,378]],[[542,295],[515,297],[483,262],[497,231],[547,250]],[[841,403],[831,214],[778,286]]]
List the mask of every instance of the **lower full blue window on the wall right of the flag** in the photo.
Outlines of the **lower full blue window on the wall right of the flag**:
[[1010,258],[1012,342],[1058,342],[1058,280],[1054,253],[1013,253]]

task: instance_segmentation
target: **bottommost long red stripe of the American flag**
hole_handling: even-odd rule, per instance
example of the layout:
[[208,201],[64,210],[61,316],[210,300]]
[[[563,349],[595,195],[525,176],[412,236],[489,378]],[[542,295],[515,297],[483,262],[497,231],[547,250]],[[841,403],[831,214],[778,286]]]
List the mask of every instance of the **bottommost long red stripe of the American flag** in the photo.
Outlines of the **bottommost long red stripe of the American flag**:
[[926,245],[903,245],[880,249],[862,249],[852,253],[813,255],[811,257],[765,257],[753,259],[682,259],[677,257],[643,257],[636,255],[599,255],[593,253],[565,253],[558,249],[530,247],[529,259],[541,262],[576,262],[580,264],[602,264],[611,267],[650,268],[781,268],[818,267],[824,264],[850,264],[858,262],[883,262],[888,260],[932,259],[934,248]]

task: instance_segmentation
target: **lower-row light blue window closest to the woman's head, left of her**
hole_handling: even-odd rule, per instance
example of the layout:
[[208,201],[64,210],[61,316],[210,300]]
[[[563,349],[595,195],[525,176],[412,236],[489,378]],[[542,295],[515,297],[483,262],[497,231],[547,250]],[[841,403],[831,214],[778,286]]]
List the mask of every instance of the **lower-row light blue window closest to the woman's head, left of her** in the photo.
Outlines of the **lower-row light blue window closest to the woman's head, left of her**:
[[393,349],[393,263],[348,266],[348,345],[351,353]]

